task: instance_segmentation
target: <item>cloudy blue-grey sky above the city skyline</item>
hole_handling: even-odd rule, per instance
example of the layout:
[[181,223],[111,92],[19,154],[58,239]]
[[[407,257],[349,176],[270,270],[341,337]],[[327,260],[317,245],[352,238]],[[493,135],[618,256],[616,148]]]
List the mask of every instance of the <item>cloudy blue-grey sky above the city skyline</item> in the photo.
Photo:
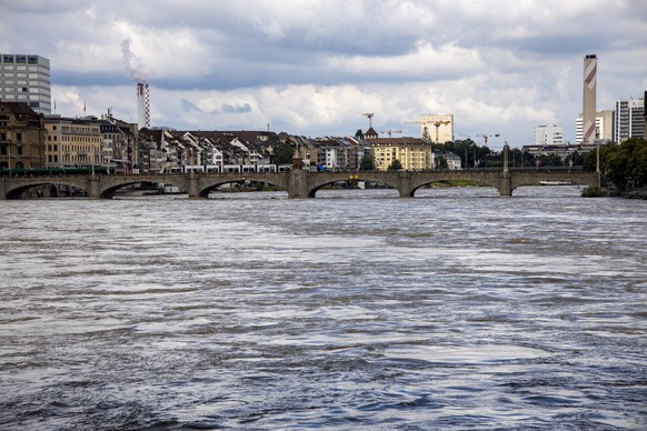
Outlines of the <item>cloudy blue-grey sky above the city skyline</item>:
[[[644,0],[0,0],[0,52],[51,61],[57,113],[307,137],[452,113],[457,138],[575,140],[584,57],[598,110],[647,90]],[[394,136],[400,136],[395,133]]]

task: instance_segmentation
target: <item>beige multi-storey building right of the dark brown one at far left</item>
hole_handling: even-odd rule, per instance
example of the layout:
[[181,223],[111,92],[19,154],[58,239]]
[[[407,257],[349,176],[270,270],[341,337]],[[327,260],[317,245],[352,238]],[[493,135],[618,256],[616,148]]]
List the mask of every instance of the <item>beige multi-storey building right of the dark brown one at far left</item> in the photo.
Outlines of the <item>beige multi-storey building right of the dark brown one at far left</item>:
[[96,118],[44,118],[46,168],[101,164],[101,124]]

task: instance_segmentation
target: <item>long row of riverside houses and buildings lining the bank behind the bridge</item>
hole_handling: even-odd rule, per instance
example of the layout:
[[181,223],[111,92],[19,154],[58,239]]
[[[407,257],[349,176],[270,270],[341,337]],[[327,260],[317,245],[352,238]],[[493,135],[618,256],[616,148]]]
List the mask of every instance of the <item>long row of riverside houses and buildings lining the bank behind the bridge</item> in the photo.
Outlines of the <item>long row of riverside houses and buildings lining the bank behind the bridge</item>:
[[[288,157],[286,157],[286,149]],[[106,167],[126,173],[280,171],[291,154],[310,170],[372,169],[399,161],[405,170],[436,167],[430,143],[379,138],[370,128],[355,137],[310,139],[272,131],[138,129],[112,117],[41,116],[26,103],[0,102],[0,169]],[[460,158],[445,154],[449,169]]]

